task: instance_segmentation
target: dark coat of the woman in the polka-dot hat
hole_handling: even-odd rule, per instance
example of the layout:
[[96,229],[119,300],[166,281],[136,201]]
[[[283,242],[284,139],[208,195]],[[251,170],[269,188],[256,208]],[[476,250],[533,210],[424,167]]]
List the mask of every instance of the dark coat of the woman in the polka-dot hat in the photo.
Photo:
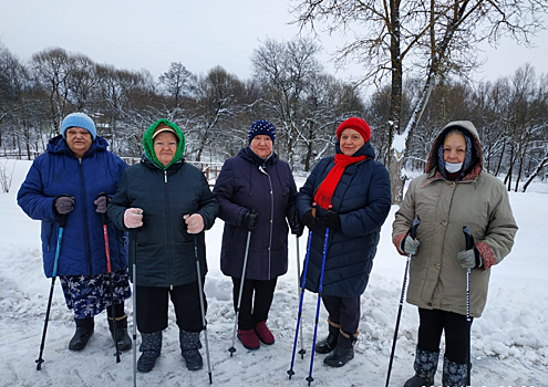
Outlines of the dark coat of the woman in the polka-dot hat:
[[219,218],[225,221],[220,269],[225,275],[241,278],[248,230],[244,215],[259,213],[252,231],[246,279],[268,281],[288,270],[288,222],[296,211],[297,187],[289,165],[272,154],[267,160],[251,148],[229,158],[215,184]]

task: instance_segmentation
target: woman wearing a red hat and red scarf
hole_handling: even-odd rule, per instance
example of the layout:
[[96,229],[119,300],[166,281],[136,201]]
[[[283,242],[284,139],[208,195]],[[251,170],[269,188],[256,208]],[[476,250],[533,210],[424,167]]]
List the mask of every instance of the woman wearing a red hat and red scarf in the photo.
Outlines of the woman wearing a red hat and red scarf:
[[374,160],[370,137],[371,129],[362,118],[351,117],[339,125],[335,156],[318,163],[297,200],[299,215],[313,231],[306,286],[314,293],[320,286],[329,228],[321,293],[329,313],[329,335],[316,345],[316,352],[334,349],[323,359],[332,367],[354,357],[360,295],[368,285],[381,226],[391,206],[389,172]]

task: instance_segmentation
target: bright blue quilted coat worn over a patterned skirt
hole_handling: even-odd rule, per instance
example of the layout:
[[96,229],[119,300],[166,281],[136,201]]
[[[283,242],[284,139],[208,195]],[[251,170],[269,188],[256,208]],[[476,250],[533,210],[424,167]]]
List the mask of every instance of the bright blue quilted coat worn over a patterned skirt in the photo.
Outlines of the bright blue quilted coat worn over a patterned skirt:
[[[97,275],[106,273],[106,251],[101,215],[93,203],[99,194],[113,196],[126,164],[112,151],[108,143],[96,137],[82,159],[73,155],[62,136],[48,144],[46,151],[32,164],[18,192],[18,203],[35,220],[42,221],[44,273],[53,273],[59,236],[59,217],[54,199],[63,194],[75,198],[74,209],[66,215],[58,275]],[[124,232],[107,222],[112,270],[127,269]]]

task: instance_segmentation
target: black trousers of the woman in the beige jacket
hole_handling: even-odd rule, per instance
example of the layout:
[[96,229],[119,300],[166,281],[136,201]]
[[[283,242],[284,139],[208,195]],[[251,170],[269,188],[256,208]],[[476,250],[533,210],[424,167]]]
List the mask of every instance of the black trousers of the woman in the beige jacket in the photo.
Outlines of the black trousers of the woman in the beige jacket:
[[449,360],[466,364],[468,360],[468,330],[472,320],[465,315],[440,310],[418,308],[418,348],[438,352],[442,332],[445,331],[445,357]]

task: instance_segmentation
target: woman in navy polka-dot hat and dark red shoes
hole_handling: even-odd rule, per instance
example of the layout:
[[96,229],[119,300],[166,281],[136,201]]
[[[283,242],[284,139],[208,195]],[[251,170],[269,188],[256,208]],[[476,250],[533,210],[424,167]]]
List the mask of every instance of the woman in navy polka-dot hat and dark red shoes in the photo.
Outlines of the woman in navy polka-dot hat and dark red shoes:
[[235,311],[251,232],[238,318],[238,338],[248,349],[275,342],[266,321],[278,276],[288,270],[288,221],[291,233],[302,234],[293,176],[272,151],[275,139],[271,123],[254,122],[249,146],[225,161],[214,188],[225,221],[220,269],[232,278]]

